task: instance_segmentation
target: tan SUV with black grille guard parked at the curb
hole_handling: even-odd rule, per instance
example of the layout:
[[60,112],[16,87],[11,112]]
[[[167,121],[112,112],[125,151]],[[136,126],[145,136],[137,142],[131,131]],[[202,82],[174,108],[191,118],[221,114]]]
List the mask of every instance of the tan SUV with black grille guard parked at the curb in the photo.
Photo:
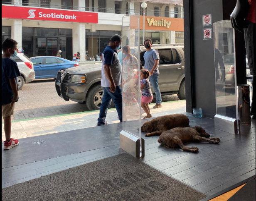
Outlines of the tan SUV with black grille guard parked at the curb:
[[[164,44],[153,45],[160,56],[159,86],[162,95],[177,94],[185,99],[185,63],[184,45]],[[138,47],[131,48],[133,55],[138,57]],[[140,47],[140,59],[144,66],[145,47]],[[122,50],[118,57],[123,60]],[[86,103],[89,110],[98,110],[101,106],[103,88],[101,87],[101,64],[90,64],[59,71],[55,81],[58,95],[65,101]],[[114,107],[113,101],[111,107]]]

